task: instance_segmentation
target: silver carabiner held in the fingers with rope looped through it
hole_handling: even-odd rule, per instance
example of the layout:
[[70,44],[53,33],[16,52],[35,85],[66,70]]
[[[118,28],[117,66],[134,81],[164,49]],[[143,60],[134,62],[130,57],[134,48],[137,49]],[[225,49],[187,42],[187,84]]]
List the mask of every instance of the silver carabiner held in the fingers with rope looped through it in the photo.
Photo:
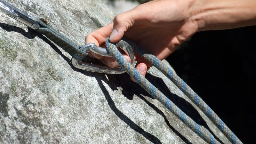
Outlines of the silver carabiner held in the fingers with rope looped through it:
[[[126,54],[129,55],[131,58],[131,64],[133,63],[134,53],[132,47],[126,43],[125,41],[121,40],[116,43],[116,46],[123,49]],[[80,48],[85,52],[93,52],[101,56],[112,57],[108,52],[107,49],[99,47],[94,43],[86,44],[85,46]],[[82,61],[77,61],[76,59],[72,58],[71,63],[75,68],[79,68],[82,70],[97,72],[97,73],[105,73],[105,74],[122,74],[125,72],[124,68],[109,68],[107,66],[95,65],[91,63],[86,63]]]

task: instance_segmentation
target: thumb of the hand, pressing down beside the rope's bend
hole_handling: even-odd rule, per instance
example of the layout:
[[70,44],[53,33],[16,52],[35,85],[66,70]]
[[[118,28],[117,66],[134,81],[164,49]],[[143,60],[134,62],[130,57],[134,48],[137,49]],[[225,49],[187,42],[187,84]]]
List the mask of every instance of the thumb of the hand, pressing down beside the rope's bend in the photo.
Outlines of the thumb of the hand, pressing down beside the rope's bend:
[[134,10],[130,10],[128,12],[116,15],[113,20],[114,24],[112,33],[109,36],[109,40],[111,42],[116,43],[120,41],[127,29],[134,25],[134,13]]

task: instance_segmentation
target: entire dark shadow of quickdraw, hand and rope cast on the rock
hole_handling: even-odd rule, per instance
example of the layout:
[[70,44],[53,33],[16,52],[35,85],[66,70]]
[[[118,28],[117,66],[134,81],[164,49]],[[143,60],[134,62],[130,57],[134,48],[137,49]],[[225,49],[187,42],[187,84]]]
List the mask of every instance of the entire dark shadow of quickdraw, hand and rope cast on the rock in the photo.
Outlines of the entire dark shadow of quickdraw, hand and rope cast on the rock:
[[[67,61],[68,65],[74,71],[79,71],[79,72],[81,72],[82,74],[84,74],[86,76],[95,77],[97,79],[99,85],[100,85],[100,88],[101,88],[102,92],[104,93],[104,95],[106,97],[106,100],[108,101],[108,105],[113,110],[113,112],[121,120],[123,120],[126,124],[128,124],[133,130],[142,134],[146,139],[148,139],[148,140],[150,140],[151,142],[154,142],[154,143],[161,143],[161,141],[158,138],[156,138],[154,135],[144,131],[142,128],[140,128],[137,124],[135,124],[131,119],[129,119],[120,110],[118,110],[116,108],[114,101],[111,99],[107,89],[104,87],[104,85],[101,82],[101,79],[104,76],[104,74],[84,71],[84,70],[80,70],[80,69],[75,68],[71,64],[71,60],[67,56],[65,56],[55,44],[53,44],[48,38],[46,38],[42,34],[36,33],[35,31],[31,30],[30,28],[28,28],[28,32],[26,32],[22,28],[12,26],[12,25],[8,25],[8,24],[5,24],[5,23],[0,23],[0,27],[3,28],[4,30],[8,31],[8,32],[14,31],[14,32],[20,33],[23,36],[27,37],[28,39],[33,39],[36,36],[39,37],[45,43],[49,44],[54,51],[56,51],[58,54],[60,54],[60,56],[65,61]],[[130,80],[130,76],[128,74],[126,74],[126,73],[125,74],[120,74],[120,75],[110,75],[110,74],[108,74],[107,76],[108,76],[108,80],[106,78],[104,78],[102,80],[105,83],[107,83],[108,86],[113,91],[117,90],[117,87],[122,87],[123,88],[123,90],[122,90],[123,95],[129,100],[132,100],[133,96],[137,95],[141,100],[145,101],[151,108],[153,108],[157,113],[159,113],[161,116],[164,117],[164,120],[165,120],[166,124],[170,127],[170,129],[172,129],[173,132],[175,132],[186,143],[190,143],[183,135],[181,135],[177,130],[175,130],[171,126],[170,122],[168,121],[168,119],[166,118],[166,116],[164,115],[164,113],[160,109],[158,109],[155,105],[153,105],[152,103],[150,103],[148,100],[146,100],[144,97],[141,96],[141,95],[144,95],[144,96],[147,96],[151,99],[154,99],[139,84],[132,82]],[[161,92],[163,92],[170,100],[172,100],[172,102],[174,104],[176,104],[183,112],[185,112],[189,117],[191,117],[197,124],[203,125],[205,128],[207,128],[212,133],[212,135],[215,137],[216,140],[219,140],[213,134],[213,132],[209,129],[208,125],[203,120],[203,118],[199,115],[199,113],[196,111],[196,109],[190,103],[188,103],[185,99],[183,99],[183,98],[181,98],[181,97],[179,97],[175,94],[172,94],[161,78],[150,75],[150,74],[147,74],[146,78],[152,84],[154,84],[156,86],[156,88],[158,88]]]

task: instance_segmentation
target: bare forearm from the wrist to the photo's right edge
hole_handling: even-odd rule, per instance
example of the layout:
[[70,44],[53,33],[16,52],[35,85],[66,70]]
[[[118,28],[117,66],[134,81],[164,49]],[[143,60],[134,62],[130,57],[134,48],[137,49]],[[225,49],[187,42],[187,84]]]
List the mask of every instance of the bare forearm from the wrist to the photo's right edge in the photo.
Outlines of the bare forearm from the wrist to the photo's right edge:
[[194,0],[191,5],[198,31],[256,25],[256,0]]

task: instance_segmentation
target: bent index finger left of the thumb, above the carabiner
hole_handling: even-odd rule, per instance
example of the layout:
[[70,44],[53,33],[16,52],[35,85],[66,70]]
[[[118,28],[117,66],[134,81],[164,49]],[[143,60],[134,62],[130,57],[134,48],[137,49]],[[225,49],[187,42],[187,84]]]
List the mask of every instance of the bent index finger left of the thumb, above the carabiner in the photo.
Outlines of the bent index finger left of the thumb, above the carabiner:
[[108,36],[110,36],[113,29],[113,21],[109,23],[108,25],[101,27],[90,34],[88,34],[85,38],[85,43],[94,43],[97,46],[100,46],[102,44],[105,44],[106,39]]

